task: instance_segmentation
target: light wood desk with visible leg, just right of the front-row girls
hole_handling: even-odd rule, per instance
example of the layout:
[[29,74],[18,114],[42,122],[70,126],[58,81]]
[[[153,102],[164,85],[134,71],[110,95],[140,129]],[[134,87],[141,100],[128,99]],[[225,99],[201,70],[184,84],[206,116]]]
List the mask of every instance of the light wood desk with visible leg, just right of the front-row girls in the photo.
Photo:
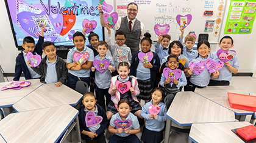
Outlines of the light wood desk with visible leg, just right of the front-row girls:
[[232,122],[233,111],[222,107],[191,91],[178,92],[167,111],[165,143],[169,140],[171,121],[180,126],[190,126],[197,122]]

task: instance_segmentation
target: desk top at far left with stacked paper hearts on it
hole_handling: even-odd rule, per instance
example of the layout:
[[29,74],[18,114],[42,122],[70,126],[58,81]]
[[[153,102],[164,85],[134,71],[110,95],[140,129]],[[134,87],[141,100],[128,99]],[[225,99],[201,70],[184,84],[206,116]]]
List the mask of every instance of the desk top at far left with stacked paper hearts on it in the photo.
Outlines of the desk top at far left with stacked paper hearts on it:
[[[21,98],[24,98],[24,96],[28,95],[31,91],[38,88],[41,83],[39,79],[29,79],[26,81],[30,81],[31,85],[28,87],[23,87],[20,90],[13,90],[13,89],[7,89],[0,91],[0,107],[12,107],[15,102],[19,101]],[[5,85],[10,84],[10,82],[2,82],[0,83],[0,88],[4,87]]]

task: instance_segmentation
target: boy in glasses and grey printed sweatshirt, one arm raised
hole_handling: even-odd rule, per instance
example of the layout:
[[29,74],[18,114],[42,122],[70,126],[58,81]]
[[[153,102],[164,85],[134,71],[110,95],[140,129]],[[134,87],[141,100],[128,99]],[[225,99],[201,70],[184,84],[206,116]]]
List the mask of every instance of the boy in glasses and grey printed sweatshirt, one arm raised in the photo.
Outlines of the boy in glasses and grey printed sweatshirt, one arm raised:
[[[132,53],[130,52],[130,48],[127,47],[124,42],[126,42],[126,33],[119,30],[115,34],[115,41],[116,44],[112,44],[111,42],[111,27],[109,24],[107,24],[107,30],[108,35],[106,38],[106,42],[108,44],[109,50],[111,52],[111,55],[113,57],[113,61],[115,62],[115,66],[118,67],[118,64],[120,62],[129,62],[129,64],[132,62]],[[118,73],[115,71],[113,73],[113,76],[118,75]]]

